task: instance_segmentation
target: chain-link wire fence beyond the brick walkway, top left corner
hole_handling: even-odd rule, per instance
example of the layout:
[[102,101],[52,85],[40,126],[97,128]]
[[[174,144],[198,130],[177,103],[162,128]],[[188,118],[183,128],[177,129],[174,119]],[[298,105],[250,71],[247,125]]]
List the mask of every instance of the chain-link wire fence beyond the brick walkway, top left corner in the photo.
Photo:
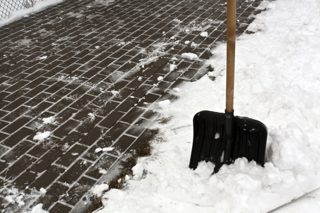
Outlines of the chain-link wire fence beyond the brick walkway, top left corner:
[[0,21],[8,19],[10,13],[34,6],[43,0],[0,0]]

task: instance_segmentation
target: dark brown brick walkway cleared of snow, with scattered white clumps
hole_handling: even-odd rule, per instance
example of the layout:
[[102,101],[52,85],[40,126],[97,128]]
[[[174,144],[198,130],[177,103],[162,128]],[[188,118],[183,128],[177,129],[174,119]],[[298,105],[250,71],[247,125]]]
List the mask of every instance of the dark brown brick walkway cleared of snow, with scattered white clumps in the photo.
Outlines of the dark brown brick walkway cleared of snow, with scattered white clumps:
[[[237,4],[240,34],[260,0]],[[85,212],[89,188],[150,139],[158,114],[148,106],[173,100],[172,88],[207,72],[225,23],[221,0],[65,0],[0,27],[0,189],[25,193],[25,205],[0,193],[0,209],[43,203],[52,213]],[[204,61],[181,59],[184,52]],[[56,123],[44,124],[50,116]],[[33,139],[44,131],[49,138]],[[115,149],[94,152],[103,147]]]

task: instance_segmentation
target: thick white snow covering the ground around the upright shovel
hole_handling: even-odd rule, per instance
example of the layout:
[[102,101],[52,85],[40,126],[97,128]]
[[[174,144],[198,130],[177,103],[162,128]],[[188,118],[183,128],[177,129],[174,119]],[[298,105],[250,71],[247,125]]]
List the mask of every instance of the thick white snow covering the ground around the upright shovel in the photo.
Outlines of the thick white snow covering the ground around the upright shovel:
[[[225,109],[226,45],[221,44],[207,62],[215,80],[204,76],[187,83],[178,101],[166,102],[161,113],[172,119],[155,126],[161,134],[152,155],[139,160],[134,171],[139,174],[127,180],[125,190],[103,195],[99,213],[268,212],[320,186],[320,1],[264,4],[268,10],[248,28],[255,33],[236,42],[234,109],[268,127],[265,167],[237,159],[214,175],[211,163],[188,168],[193,115]],[[292,208],[306,207],[308,199]],[[292,212],[286,210],[290,206],[277,211]],[[319,210],[312,207],[303,211]]]

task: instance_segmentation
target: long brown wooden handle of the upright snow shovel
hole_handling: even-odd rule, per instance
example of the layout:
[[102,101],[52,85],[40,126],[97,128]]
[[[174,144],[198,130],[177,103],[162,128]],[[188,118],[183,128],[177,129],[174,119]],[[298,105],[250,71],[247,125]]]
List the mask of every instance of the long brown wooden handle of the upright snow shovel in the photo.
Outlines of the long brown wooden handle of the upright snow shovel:
[[227,0],[227,94],[226,111],[233,111],[236,47],[236,0]]

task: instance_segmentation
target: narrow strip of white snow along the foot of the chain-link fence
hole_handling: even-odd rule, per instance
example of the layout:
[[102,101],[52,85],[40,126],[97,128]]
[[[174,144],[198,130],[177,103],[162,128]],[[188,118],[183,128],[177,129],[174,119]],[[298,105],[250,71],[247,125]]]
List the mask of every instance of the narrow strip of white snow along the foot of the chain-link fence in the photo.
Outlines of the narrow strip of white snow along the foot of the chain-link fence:
[[30,13],[42,10],[46,7],[53,5],[53,4],[58,4],[62,1],[63,0],[45,0],[45,1],[41,1],[41,2],[35,2],[35,5],[33,7],[11,12],[10,17],[8,19],[0,21],[0,26],[8,24],[8,23],[10,23],[16,19],[19,19],[21,17],[24,17]]

